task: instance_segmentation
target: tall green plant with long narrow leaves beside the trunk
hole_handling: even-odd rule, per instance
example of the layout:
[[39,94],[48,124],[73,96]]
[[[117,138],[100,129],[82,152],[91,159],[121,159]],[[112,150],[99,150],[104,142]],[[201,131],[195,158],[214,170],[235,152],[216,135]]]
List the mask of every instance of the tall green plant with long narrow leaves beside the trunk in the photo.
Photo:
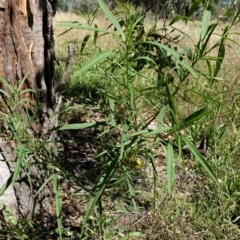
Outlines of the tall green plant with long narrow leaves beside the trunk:
[[[102,11],[111,22],[108,29],[114,27],[114,31],[98,29],[96,26],[94,28],[83,26],[79,23],[65,22],[59,24],[59,26],[70,28],[103,32],[103,35],[111,34],[119,43],[117,49],[100,53],[75,73],[75,76],[83,74],[96,65],[98,76],[102,83],[106,82],[107,87],[98,90],[105,95],[103,108],[107,115],[106,119],[108,119],[104,126],[104,141],[111,135],[110,133],[113,129],[119,124],[121,125],[121,130],[118,131],[119,144],[113,142],[112,144],[103,145],[101,148],[102,151],[99,152],[99,156],[105,155],[104,159],[106,162],[104,161],[102,165],[101,176],[94,188],[95,196],[88,205],[82,231],[94,205],[101,203],[104,191],[109,186],[111,179],[121,168],[123,168],[124,172],[127,171],[127,168],[123,165],[124,159],[128,159],[133,153],[141,155],[151,151],[153,145],[152,136],[154,137],[165,132],[167,136],[173,135],[177,142],[179,158],[183,158],[182,148],[185,143],[203,169],[218,184],[217,178],[205,158],[188,137],[183,136],[181,133],[183,129],[196,125],[200,119],[206,119],[210,111],[204,106],[179,120],[175,96],[183,88],[182,86],[184,86],[190,74],[195,77],[203,76],[209,80],[210,85],[219,80],[217,76],[223,63],[225,42],[230,31],[230,28],[226,27],[220,36],[220,40],[209,48],[209,41],[217,24],[210,24],[211,13],[205,11],[202,27],[199,28],[198,43],[192,50],[189,47],[183,48],[179,37],[171,38],[168,35],[157,33],[156,25],[146,32],[143,21],[144,16],[132,14],[126,8],[125,16],[117,19],[102,1],[99,0],[98,2]],[[192,10],[190,9],[192,12],[194,12],[194,7],[197,7],[197,5],[194,5]],[[184,17],[176,17],[171,21],[170,25],[173,25],[182,18]],[[180,30],[173,29],[181,33]],[[101,35],[98,36],[98,38],[100,37]],[[214,49],[218,51],[217,57],[209,55]],[[194,70],[203,61],[208,67],[208,72]],[[154,72],[153,78],[157,79],[157,84],[150,88],[139,88],[138,81],[148,82],[148,77],[145,74],[149,73],[150,68]],[[146,117],[141,117],[144,108],[143,105],[139,105],[139,102],[146,101],[146,96],[149,93],[160,94],[155,101],[156,106],[152,111],[146,112]],[[206,98],[204,94],[202,97],[203,99]],[[168,106],[169,110],[170,126],[168,127],[162,127],[166,116],[166,110],[163,111],[163,109],[166,109],[165,106]],[[123,109],[124,114],[121,114]],[[156,128],[152,131],[148,128],[148,125],[155,119],[159,121]],[[97,123],[93,123],[93,125],[95,124]],[[72,127],[77,129],[78,126],[80,127],[80,125],[68,125],[67,127],[69,129]],[[163,141],[162,144],[164,147],[165,142]],[[173,144],[173,142],[168,141],[166,149],[168,192],[171,191],[174,182],[175,157]],[[153,158],[150,158],[149,161],[154,169],[155,184],[157,179],[155,162]],[[126,181],[131,192],[132,184],[129,180],[129,178],[123,179],[123,181]],[[101,212],[100,210],[100,214]]]

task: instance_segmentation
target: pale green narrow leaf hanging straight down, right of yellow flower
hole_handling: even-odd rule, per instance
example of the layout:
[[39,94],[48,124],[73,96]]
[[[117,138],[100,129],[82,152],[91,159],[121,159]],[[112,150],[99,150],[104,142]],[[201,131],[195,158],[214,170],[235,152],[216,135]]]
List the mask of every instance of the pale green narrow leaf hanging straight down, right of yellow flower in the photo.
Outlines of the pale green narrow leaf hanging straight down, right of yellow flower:
[[167,183],[168,192],[171,191],[174,182],[174,153],[172,144],[167,145]]

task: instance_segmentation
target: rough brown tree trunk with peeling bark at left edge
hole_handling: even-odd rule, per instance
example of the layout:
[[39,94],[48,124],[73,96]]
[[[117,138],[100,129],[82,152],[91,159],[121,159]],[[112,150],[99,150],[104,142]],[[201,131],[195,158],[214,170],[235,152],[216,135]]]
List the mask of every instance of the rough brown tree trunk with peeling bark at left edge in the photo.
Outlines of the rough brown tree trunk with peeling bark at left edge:
[[[56,0],[0,0],[0,76],[15,89],[18,87],[21,87],[21,90],[26,89],[22,94],[18,93],[19,102],[27,99],[25,105],[18,104],[13,107],[11,97],[14,97],[14,94],[1,81],[0,87],[4,92],[1,92],[0,96],[0,112],[8,116],[15,116],[17,113],[21,115],[23,123],[30,122],[29,118],[36,114],[36,120],[30,122],[31,125],[25,129],[25,133],[31,136],[34,144],[35,138],[45,142],[56,138],[56,132],[49,131],[58,124],[57,116],[51,116],[59,110],[61,104],[59,94],[54,91],[52,18],[56,2]],[[21,86],[25,76],[26,80]],[[2,132],[6,134],[2,134],[0,139],[2,155],[0,186],[3,186],[7,179],[13,178],[12,173],[16,171],[17,159],[20,157],[19,150],[11,152],[9,149],[21,149],[22,144],[16,139],[9,144],[9,136],[14,136],[14,133],[13,128],[8,125],[8,120],[6,123],[7,125],[2,124]],[[15,130],[18,131],[14,128]],[[46,213],[51,207],[50,199],[53,193],[50,185],[46,185],[35,197],[49,172],[43,167],[41,155],[36,153],[33,155],[34,158],[31,158],[27,167],[21,163],[21,171],[15,183],[0,197],[0,203],[7,205],[19,218],[32,218],[34,210]],[[24,156],[24,159],[27,162],[26,157]],[[16,161],[6,162],[10,158],[15,158]],[[9,202],[6,202],[6,199]]]

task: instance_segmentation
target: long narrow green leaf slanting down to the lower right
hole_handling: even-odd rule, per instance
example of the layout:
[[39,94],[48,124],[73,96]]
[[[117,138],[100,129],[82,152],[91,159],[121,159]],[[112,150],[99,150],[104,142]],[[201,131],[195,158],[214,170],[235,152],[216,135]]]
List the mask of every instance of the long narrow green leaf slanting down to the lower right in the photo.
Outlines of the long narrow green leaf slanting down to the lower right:
[[213,179],[213,181],[218,184],[218,180],[213,173],[212,169],[202,156],[202,154],[197,150],[197,148],[185,137],[183,137],[184,142],[187,144],[187,147],[190,149],[192,154],[194,155],[195,159],[202,165],[203,169],[207,172],[207,174]]

